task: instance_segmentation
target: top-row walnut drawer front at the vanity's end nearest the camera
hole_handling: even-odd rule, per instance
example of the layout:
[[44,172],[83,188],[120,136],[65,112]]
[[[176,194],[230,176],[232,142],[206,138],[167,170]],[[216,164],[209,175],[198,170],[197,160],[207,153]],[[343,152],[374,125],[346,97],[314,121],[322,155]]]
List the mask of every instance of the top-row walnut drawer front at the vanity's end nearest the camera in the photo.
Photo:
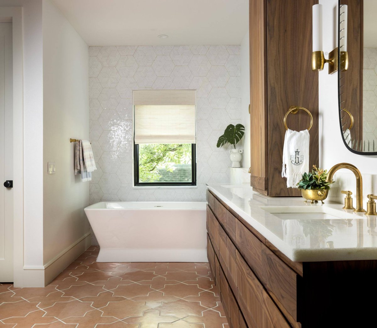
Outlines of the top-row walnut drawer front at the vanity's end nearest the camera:
[[284,313],[287,311],[297,321],[296,272],[264,245],[262,246],[262,262],[268,293]]

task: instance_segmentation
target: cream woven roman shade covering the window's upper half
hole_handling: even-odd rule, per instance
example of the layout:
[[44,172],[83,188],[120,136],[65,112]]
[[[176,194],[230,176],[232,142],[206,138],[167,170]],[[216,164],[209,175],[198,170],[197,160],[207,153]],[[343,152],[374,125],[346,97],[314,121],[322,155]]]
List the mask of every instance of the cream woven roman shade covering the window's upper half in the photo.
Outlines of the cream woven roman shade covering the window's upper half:
[[195,90],[135,90],[135,143],[196,143]]

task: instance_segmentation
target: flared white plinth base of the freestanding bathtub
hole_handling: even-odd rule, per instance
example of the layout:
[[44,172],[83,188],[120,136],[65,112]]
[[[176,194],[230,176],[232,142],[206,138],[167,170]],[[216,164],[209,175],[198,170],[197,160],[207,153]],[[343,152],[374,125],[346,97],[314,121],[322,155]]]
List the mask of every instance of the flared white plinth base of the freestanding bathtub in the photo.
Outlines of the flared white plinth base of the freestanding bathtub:
[[97,262],[208,262],[207,249],[101,248]]

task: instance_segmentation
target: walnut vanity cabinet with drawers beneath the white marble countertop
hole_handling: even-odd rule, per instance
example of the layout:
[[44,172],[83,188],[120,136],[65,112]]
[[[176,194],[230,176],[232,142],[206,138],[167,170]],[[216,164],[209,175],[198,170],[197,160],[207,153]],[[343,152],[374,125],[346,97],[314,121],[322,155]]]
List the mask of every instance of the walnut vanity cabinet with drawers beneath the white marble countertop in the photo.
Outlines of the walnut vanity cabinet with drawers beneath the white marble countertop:
[[231,328],[368,326],[377,261],[293,262],[207,192],[208,261]]

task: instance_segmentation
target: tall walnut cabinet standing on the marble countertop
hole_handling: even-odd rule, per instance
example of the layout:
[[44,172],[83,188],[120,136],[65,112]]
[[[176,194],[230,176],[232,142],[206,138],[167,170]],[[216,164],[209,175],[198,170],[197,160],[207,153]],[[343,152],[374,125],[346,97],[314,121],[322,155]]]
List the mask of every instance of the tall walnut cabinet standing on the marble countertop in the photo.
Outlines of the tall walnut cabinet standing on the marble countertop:
[[[318,73],[311,70],[312,6],[318,0],[250,0],[251,177],[268,196],[299,196],[281,177],[284,116],[292,105],[313,115],[310,161],[318,165]],[[305,111],[290,114],[291,130],[305,130]]]

